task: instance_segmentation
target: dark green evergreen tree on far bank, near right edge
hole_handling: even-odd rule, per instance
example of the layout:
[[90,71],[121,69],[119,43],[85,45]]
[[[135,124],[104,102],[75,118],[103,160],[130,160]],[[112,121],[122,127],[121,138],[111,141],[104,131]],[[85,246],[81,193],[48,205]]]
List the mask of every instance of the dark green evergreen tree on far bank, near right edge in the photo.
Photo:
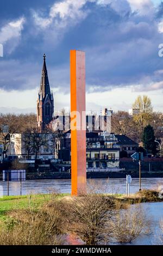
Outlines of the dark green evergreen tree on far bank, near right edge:
[[147,153],[152,153],[153,155],[156,154],[154,130],[151,125],[147,125],[143,130],[142,142]]

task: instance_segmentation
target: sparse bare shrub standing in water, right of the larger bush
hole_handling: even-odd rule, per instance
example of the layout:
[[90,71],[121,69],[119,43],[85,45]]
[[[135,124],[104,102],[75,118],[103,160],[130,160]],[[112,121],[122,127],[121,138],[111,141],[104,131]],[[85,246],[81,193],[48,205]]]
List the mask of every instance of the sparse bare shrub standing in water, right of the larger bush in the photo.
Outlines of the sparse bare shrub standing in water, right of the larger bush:
[[149,233],[149,219],[141,204],[118,210],[112,225],[115,227],[114,239],[120,243],[130,243],[137,236]]

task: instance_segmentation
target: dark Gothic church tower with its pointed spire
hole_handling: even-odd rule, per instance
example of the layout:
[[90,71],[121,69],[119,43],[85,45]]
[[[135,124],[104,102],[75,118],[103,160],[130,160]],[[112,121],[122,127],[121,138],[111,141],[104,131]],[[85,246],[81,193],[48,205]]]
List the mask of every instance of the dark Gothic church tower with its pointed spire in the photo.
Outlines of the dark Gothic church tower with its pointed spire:
[[43,54],[43,68],[41,75],[40,90],[37,99],[37,129],[42,132],[53,119],[54,99],[49,86],[46,55]]

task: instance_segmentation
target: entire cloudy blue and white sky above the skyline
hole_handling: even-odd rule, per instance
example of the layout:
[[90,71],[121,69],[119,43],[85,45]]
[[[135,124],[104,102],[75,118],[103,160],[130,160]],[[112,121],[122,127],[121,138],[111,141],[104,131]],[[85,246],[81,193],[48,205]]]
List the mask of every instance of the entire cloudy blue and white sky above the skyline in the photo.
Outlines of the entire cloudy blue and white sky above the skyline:
[[148,94],[163,111],[163,1],[1,0],[0,112],[35,112],[43,53],[55,110],[70,107],[71,49],[86,52],[87,111],[128,110]]

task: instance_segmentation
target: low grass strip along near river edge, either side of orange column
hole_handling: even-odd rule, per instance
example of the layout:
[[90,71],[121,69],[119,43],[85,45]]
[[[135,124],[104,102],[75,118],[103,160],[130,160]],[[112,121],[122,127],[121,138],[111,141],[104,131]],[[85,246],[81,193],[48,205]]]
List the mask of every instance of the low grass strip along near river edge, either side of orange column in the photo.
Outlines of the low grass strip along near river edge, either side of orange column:
[[[56,194],[55,194],[56,196]],[[5,220],[5,216],[9,211],[15,209],[27,209],[33,206],[34,209],[38,209],[45,203],[50,202],[54,197],[54,194],[31,194],[27,196],[4,196],[0,198],[0,219]],[[69,198],[68,193],[59,193],[57,198]],[[145,203],[145,202],[163,202],[163,199],[159,198],[159,192],[155,190],[142,190],[135,194],[130,194],[130,197],[126,197],[124,194],[105,194],[105,197],[112,198],[121,203]]]

